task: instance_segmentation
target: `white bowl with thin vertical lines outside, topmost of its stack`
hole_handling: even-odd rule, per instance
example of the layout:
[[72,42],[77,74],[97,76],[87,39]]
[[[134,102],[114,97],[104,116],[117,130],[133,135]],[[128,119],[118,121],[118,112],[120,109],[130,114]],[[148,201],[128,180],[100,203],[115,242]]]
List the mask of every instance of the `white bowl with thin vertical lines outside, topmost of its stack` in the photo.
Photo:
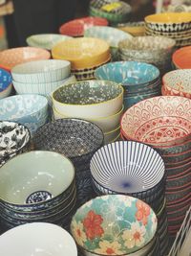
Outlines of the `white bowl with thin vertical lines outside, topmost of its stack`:
[[40,83],[62,81],[71,75],[71,63],[67,60],[34,60],[11,69],[13,81]]

